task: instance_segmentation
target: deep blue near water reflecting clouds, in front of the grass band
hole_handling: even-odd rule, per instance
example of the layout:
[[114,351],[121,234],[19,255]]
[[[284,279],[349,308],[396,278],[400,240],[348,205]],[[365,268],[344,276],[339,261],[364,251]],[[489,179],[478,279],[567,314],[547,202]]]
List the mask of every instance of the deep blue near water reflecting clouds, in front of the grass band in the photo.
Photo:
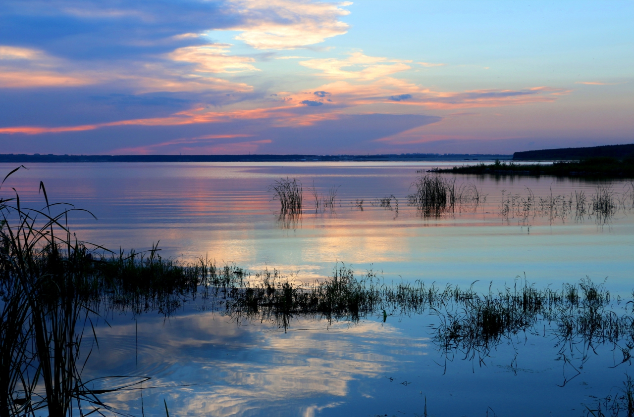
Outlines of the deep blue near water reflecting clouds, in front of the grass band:
[[[592,395],[620,385],[631,365],[614,369],[607,345],[573,366],[557,355],[557,339],[520,333],[503,340],[482,364],[460,354],[446,359],[430,337],[435,316],[368,318],[357,324],[298,319],[283,332],[269,323],[236,323],[190,305],[176,316],[109,318],[100,327],[100,355],[87,373],[152,376],[143,392],[145,415],[313,416],[579,416]],[[541,327],[541,323],[538,327]],[[541,330],[541,329],[540,329]],[[443,366],[446,365],[446,368]],[[190,385],[193,384],[193,385]],[[140,414],[138,391],[106,397]],[[539,399],[539,401],[536,401]],[[321,413],[321,414],[320,414]]]

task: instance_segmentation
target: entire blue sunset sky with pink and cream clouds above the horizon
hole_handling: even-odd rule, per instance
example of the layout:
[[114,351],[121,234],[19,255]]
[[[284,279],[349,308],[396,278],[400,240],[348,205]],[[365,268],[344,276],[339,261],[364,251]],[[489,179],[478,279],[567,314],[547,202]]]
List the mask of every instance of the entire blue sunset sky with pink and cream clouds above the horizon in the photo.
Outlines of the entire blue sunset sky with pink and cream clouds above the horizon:
[[634,1],[0,1],[0,153],[634,142]]

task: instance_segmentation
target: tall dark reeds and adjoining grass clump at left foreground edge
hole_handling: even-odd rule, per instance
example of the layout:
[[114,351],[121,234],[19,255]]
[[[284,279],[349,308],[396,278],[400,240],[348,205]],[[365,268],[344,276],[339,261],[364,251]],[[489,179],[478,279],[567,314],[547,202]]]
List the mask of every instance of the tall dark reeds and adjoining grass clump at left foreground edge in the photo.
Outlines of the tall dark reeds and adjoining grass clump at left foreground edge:
[[100,303],[127,299],[150,309],[153,299],[169,312],[173,297],[191,289],[185,284],[196,270],[163,261],[157,247],[146,258],[145,252],[118,258],[110,252],[110,258],[96,259],[87,247],[107,251],[80,242],[68,229],[69,215],[87,212],[49,204],[42,183],[40,191],[44,209],[24,208],[18,194],[0,199],[0,416],[100,413],[107,406],[98,395],[146,379],[108,389],[82,381],[82,369],[98,347],[94,320],[100,318]]

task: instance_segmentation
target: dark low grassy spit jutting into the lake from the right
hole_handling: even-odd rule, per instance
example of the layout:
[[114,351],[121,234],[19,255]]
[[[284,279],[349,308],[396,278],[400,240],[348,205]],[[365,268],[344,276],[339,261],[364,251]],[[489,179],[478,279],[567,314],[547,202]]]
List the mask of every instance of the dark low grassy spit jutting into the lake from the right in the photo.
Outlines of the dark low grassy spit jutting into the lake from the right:
[[634,178],[634,158],[596,158],[579,159],[579,161],[559,161],[552,164],[517,164],[506,163],[496,159],[493,164],[479,163],[471,166],[454,166],[453,168],[434,168],[427,172],[455,173],[475,175],[552,175],[555,177],[579,178]]

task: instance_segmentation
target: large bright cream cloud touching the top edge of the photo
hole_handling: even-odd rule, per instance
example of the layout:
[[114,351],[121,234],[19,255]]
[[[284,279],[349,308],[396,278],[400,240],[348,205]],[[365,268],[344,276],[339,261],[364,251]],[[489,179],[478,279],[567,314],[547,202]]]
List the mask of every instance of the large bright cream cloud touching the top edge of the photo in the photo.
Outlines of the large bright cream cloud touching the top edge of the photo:
[[323,42],[347,32],[340,22],[352,3],[321,3],[300,0],[236,0],[233,8],[243,23],[231,27],[242,40],[256,49],[297,49]]

